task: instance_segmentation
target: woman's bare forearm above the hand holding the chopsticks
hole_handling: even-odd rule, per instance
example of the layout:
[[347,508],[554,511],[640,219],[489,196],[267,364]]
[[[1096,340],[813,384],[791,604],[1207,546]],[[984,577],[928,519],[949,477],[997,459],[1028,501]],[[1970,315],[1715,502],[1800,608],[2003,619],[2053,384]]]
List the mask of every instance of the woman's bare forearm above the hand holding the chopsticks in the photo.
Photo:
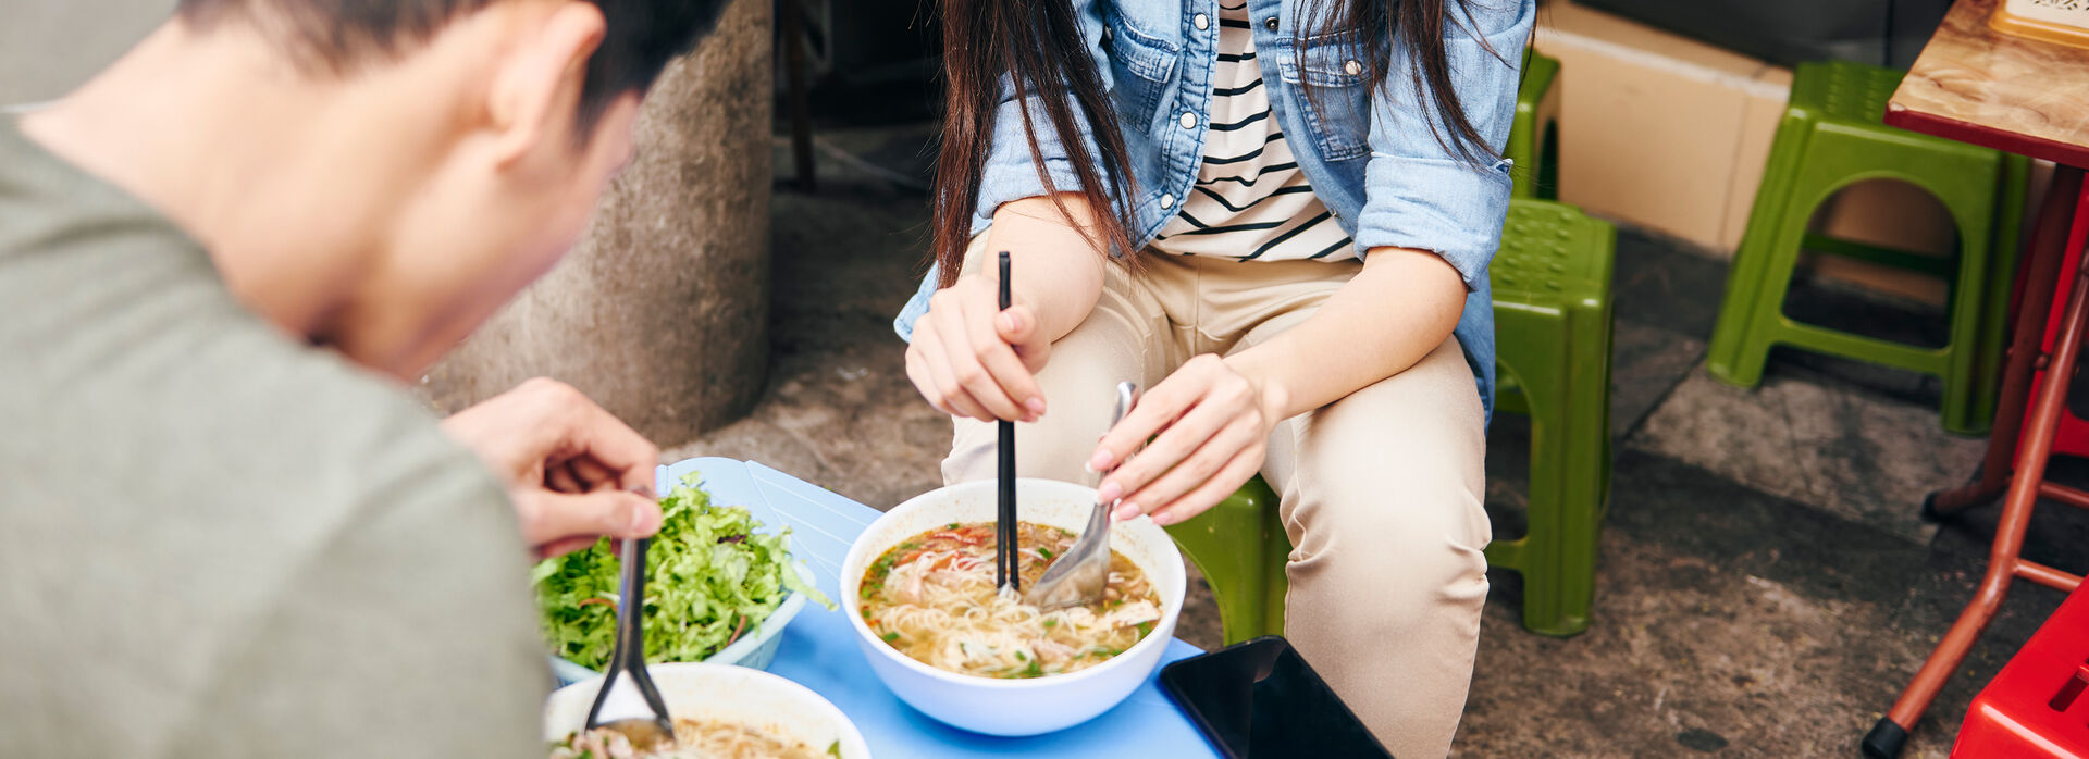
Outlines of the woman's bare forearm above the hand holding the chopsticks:
[[[1065,213],[1059,213],[1059,206]],[[1038,315],[1047,342],[1074,332],[1103,296],[1105,254],[1082,229],[1095,223],[1088,200],[1074,192],[1011,200],[994,211],[986,229],[986,252],[1007,250],[1011,261],[1011,298]],[[999,277],[992,259],[980,263],[982,273]]]

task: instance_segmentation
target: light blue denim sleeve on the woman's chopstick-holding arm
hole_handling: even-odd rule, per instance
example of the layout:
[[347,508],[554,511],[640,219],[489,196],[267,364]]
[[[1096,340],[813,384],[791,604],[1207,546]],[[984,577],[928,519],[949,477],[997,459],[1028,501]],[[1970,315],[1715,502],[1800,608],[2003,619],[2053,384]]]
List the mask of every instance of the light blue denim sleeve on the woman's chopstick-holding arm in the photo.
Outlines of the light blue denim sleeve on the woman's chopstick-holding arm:
[[[1076,0],[1074,15],[1080,19],[1082,46],[1088,50],[1088,58],[1095,60],[1095,73],[1101,77],[1103,92],[1111,90],[1109,58],[1103,54],[1103,13],[1097,8],[1095,0]],[[980,173],[980,202],[973,211],[971,234],[980,234],[988,223],[994,221],[994,209],[1003,202],[1036,198],[1044,194],[1044,181],[1038,179],[1036,156],[1030,154],[1030,140],[1024,133],[1024,111],[1030,111],[1032,127],[1036,129],[1038,154],[1044,158],[1044,173],[1051,177],[1053,188],[1059,192],[1078,192],[1080,175],[1074,161],[1067,158],[1065,140],[1057,129],[1053,129],[1051,119],[1044,115],[1044,98],[1067,98],[1074,113],[1072,136],[1088,148],[1088,156],[1101,156],[1095,144],[1095,125],[1080,111],[1072,92],[1030,92],[1024,98],[1015,98],[1015,79],[1011,75],[1001,77],[1001,104],[994,108],[994,131],[988,142],[986,167]]]

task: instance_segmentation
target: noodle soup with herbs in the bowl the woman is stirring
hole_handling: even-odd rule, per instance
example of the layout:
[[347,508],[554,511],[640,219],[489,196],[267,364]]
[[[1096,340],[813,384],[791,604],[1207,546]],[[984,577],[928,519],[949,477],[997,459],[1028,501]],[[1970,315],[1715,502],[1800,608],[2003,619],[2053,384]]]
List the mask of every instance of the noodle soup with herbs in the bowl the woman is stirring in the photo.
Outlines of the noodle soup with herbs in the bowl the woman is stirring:
[[[1024,586],[1074,544],[1074,534],[1017,523]],[[886,550],[863,573],[863,621],[898,653],[982,678],[1042,678],[1116,657],[1153,632],[1161,598],[1122,553],[1109,553],[1099,607],[1040,611],[994,588],[994,523],[948,523]]]

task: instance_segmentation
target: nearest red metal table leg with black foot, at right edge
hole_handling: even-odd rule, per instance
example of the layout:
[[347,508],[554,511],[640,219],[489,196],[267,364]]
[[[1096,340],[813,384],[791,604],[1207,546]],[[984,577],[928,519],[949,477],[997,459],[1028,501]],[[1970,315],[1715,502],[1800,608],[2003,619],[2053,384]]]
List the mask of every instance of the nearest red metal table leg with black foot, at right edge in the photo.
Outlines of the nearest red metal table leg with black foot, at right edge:
[[[2081,183],[2079,173],[2074,183]],[[2079,190],[2076,194],[2074,223],[2066,242],[2070,254],[2081,254],[2085,236],[2089,236],[2089,225],[2085,225],[2089,223],[2089,213],[2083,213],[2089,206],[2089,194],[2081,194]],[[2043,488],[2045,461],[2053,452],[2053,430],[2060,425],[2060,411],[2068,400],[2068,384],[2074,382],[2083,334],[2089,334],[2089,267],[2079,267],[2074,275],[2074,288],[2068,292],[2068,311],[2060,323],[2060,340],[2053,344],[2053,357],[2047,367],[2047,382],[2033,400],[2031,430],[2016,455],[2016,473],[2010,478],[2010,496],[2003,498],[2001,523],[1995,528],[1995,546],[1987,559],[1987,576],[1980,578],[1980,588],[1974,592],[1972,603],[1966,605],[1966,611],[1945,632],[1937,651],[1916,671],[1914,682],[1907,684],[1907,690],[1901,690],[1901,699],[1893,703],[1893,711],[1886,711],[1886,717],[1863,736],[1863,753],[1868,757],[1886,759],[1901,753],[1907,728],[1914,728],[1916,719],[1922,719],[1922,711],[1937,699],[1937,690],[1966,661],[1966,651],[1980,638],[1980,632],[1995,617],[1995,607],[2008,596],[2010,582],[2028,578],[2064,588],[2072,588],[2079,582],[2079,578],[2018,557],[2024,548],[2024,528],[2031,525],[2031,509],[2037,505],[2039,492],[2047,490]],[[2024,294],[2028,300],[2031,290]],[[2028,319],[2028,313],[2020,313],[2020,319]]]

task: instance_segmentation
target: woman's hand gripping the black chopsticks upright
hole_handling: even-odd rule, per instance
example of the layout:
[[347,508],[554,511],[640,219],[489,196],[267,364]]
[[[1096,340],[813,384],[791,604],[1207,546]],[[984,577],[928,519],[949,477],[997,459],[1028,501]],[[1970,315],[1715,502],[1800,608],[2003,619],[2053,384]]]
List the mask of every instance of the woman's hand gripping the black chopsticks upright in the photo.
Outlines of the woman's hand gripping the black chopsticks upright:
[[1036,421],[1044,415],[1036,371],[1049,352],[1051,338],[1022,292],[1003,311],[996,275],[967,273],[938,290],[915,321],[907,377],[953,417]]

